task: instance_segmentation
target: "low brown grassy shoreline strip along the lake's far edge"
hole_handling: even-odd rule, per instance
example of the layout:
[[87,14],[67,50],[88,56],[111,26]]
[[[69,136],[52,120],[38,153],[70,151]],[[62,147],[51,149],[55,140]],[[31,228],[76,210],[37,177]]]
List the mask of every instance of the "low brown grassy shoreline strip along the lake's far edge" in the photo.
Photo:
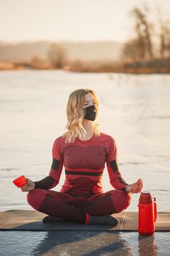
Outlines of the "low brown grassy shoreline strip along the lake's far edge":
[[0,62],[0,70],[65,70],[68,72],[125,73],[125,74],[169,74],[170,59],[154,59],[150,61],[68,61],[60,69],[47,62],[7,63]]

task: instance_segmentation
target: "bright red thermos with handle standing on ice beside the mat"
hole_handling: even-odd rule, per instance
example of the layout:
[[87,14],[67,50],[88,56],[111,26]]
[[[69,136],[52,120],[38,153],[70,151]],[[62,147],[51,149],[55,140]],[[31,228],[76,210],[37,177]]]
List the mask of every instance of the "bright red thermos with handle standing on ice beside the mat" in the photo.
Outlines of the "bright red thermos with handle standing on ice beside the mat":
[[139,197],[139,226],[138,232],[142,236],[151,236],[155,232],[157,208],[155,197],[150,192],[142,192]]

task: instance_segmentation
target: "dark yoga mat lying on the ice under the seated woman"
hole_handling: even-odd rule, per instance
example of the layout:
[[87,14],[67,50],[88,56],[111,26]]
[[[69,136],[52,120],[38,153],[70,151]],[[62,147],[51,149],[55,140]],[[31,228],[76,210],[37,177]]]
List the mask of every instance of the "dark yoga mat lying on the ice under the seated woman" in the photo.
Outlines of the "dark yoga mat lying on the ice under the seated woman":
[[[31,210],[9,210],[0,211],[0,230],[26,230],[26,231],[47,231],[47,230],[106,230],[106,231],[137,231],[138,212],[122,211],[119,214],[112,214],[120,220],[116,227],[109,225],[83,225],[76,222],[44,223],[42,219],[47,214]],[[170,212],[158,212],[155,231],[170,231]]]

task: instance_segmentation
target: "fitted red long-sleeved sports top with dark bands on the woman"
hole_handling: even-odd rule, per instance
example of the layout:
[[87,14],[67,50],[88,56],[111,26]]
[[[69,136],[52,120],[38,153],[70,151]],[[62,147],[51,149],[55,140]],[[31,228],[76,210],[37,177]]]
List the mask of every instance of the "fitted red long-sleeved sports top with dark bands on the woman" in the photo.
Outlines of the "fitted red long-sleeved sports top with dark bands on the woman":
[[[123,189],[128,186],[118,169],[117,147],[112,136],[101,132],[89,140],[76,138],[74,143],[65,141],[66,138],[61,136],[53,143],[53,163],[48,176],[51,183],[46,188],[51,189],[58,184],[64,165],[66,178],[61,192],[81,195],[103,192],[101,178],[105,163],[112,187]],[[45,179],[44,184],[47,182],[47,178]],[[36,181],[35,184],[36,188],[41,187],[41,181]]]

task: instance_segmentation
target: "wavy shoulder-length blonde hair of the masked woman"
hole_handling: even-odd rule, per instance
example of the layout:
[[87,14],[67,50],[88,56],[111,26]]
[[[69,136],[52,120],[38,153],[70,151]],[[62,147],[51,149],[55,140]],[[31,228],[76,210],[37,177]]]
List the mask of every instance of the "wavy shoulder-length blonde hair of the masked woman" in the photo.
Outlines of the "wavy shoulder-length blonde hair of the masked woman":
[[[85,94],[93,94],[95,99],[95,109],[96,109],[96,119],[98,117],[98,98],[96,93],[90,89],[78,89],[69,95],[69,100],[67,103],[66,113],[68,123],[66,124],[67,132],[64,132],[62,137],[66,137],[66,143],[73,143],[75,138],[85,138],[86,131],[82,126],[82,120],[84,118],[83,105],[85,102]],[[94,133],[95,135],[100,134],[100,124],[94,121]]]

